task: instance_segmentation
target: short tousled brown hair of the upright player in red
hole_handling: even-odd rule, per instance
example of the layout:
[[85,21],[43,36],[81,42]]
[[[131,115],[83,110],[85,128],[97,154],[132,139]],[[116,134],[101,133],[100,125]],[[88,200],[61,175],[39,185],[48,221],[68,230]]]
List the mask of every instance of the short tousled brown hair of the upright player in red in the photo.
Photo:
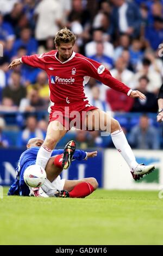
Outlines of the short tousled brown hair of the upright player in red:
[[71,43],[72,45],[74,45],[75,41],[76,41],[76,35],[73,34],[73,32],[70,31],[70,29],[68,28],[62,28],[60,31],[57,32],[57,34],[55,35],[55,44],[60,46],[60,44],[62,42],[64,43]]

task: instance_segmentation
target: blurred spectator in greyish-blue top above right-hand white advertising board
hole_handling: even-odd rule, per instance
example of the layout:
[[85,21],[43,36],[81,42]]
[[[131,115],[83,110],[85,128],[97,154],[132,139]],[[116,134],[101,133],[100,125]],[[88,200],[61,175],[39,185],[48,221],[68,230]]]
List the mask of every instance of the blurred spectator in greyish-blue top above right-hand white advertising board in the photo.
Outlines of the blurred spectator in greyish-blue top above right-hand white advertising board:
[[136,149],[159,149],[158,131],[150,125],[147,115],[140,117],[139,125],[131,129],[128,137],[131,147]]

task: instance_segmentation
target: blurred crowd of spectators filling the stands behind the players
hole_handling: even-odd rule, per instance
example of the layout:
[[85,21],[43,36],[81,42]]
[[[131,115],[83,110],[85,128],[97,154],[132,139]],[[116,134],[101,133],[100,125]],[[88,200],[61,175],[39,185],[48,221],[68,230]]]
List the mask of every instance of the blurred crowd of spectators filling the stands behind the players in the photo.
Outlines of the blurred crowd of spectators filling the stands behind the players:
[[[11,71],[8,65],[12,59],[53,50],[55,33],[64,26],[77,35],[75,52],[102,63],[112,76],[146,95],[144,101],[131,99],[91,78],[85,86],[90,103],[119,114],[132,147],[162,148],[161,129],[155,115],[149,115],[158,109],[163,77],[162,0],[0,0],[0,145],[24,147],[30,137],[45,138],[45,71],[26,65]],[[67,136],[83,148],[112,147],[111,139],[98,131]]]

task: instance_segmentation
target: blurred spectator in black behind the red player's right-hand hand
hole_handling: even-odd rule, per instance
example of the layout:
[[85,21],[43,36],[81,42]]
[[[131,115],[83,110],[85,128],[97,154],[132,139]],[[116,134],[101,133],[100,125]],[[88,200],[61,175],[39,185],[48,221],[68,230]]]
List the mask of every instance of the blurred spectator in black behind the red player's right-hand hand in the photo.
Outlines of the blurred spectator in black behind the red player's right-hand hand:
[[134,99],[134,105],[131,111],[133,112],[154,112],[156,113],[157,111],[157,101],[156,101],[156,96],[154,93],[149,93],[147,91],[149,80],[146,76],[142,76],[139,78],[139,84],[136,87],[136,90],[139,90],[141,93],[146,95],[145,100],[139,100],[139,99]]

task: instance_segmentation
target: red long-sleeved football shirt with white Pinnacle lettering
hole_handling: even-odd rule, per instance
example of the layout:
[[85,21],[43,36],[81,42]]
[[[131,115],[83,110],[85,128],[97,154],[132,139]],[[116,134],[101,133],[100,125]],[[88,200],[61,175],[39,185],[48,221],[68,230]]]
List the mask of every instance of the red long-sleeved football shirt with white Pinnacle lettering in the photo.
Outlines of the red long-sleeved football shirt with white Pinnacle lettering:
[[66,102],[74,103],[86,99],[84,86],[90,77],[118,92],[130,93],[130,88],[112,77],[102,64],[79,53],[73,52],[69,59],[61,62],[57,58],[57,51],[53,50],[41,55],[23,56],[22,62],[47,72],[50,100],[53,103],[67,105]]

